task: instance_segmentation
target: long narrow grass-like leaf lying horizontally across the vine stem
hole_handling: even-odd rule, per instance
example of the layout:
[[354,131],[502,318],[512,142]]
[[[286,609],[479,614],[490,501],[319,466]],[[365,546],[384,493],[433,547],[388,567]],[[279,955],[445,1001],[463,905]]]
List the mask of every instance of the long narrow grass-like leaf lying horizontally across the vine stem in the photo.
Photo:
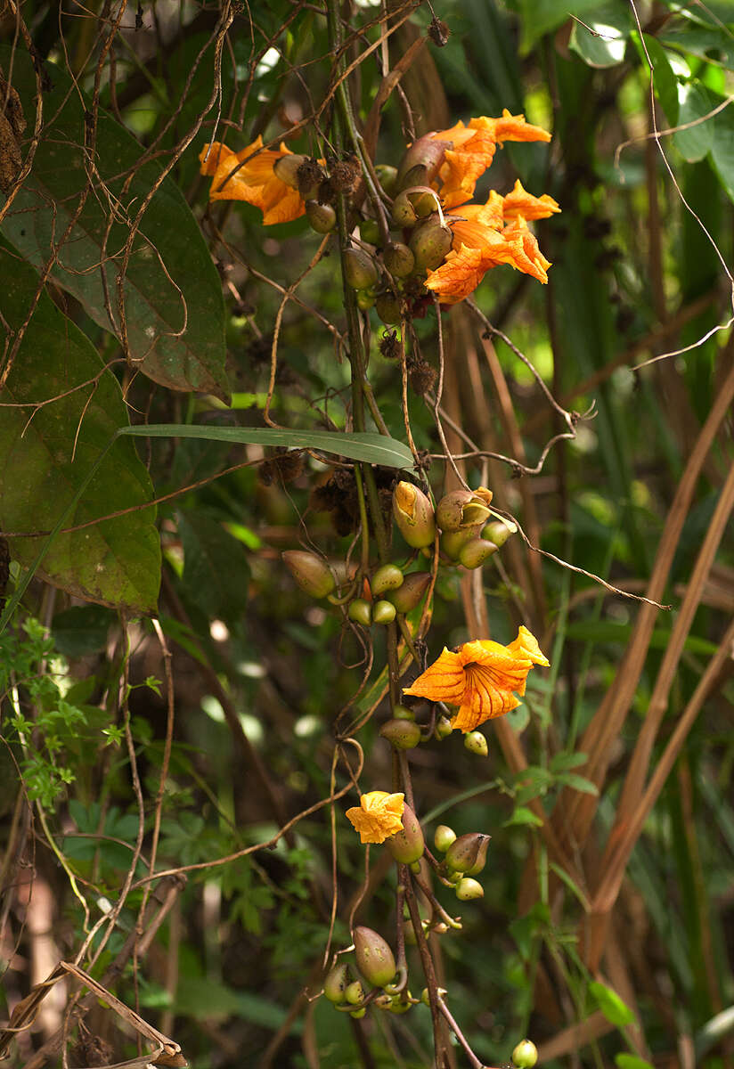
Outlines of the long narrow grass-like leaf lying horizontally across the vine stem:
[[318,449],[353,461],[365,461],[382,467],[412,467],[413,456],[407,446],[395,438],[371,432],[290,431],[270,427],[199,427],[191,423],[151,423],[147,427],[126,427],[120,434],[151,438],[206,438],[209,441],[231,441],[240,445],[290,446],[295,449]]

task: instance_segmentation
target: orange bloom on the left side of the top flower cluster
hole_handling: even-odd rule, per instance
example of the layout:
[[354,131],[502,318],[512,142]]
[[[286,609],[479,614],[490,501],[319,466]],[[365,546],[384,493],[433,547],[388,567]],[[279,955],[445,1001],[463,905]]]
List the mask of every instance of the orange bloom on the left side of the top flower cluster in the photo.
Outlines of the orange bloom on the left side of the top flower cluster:
[[266,227],[298,219],[304,214],[306,204],[298,190],[282,182],[274,170],[279,159],[291,155],[291,150],[282,143],[278,150],[263,149],[262,137],[241,152],[233,152],[219,141],[204,145],[199,159],[201,173],[213,179],[209,200],[243,200],[254,204],[262,211]]

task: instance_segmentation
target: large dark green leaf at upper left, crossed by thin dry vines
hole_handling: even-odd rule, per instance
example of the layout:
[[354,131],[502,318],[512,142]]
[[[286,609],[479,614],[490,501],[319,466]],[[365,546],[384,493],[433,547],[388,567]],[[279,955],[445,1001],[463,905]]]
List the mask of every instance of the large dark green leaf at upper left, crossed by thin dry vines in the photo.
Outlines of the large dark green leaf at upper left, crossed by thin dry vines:
[[[157,182],[159,166],[136,169],[142,146],[100,112],[92,170],[83,149],[79,87],[61,68],[46,66],[53,88],[44,93],[43,137],[33,169],[4,220],[4,233],[35,266],[47,262],[52,244],[58,247],[54,281],[81,301],[95,323],[120,338],[116,278],[129,226]],[[0,68],[12,68],[32,129],[36,88],[30,57],[0,46]],[[90,174],[81,215],[59,246]],[[123,291],[130,357],[140,369],[172,389],[206,390],[225,400],[221,284],[199,226],[170,179],[142,218]]]

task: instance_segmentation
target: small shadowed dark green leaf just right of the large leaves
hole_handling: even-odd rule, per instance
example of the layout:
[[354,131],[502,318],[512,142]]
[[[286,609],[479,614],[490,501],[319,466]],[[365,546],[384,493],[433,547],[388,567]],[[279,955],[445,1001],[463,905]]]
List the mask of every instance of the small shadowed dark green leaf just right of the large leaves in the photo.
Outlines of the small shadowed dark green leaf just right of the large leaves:
[[209,619],[232,623],[247,604],[250,567],[245,548],[220,523],[201,513],[178,515],[186,597]]

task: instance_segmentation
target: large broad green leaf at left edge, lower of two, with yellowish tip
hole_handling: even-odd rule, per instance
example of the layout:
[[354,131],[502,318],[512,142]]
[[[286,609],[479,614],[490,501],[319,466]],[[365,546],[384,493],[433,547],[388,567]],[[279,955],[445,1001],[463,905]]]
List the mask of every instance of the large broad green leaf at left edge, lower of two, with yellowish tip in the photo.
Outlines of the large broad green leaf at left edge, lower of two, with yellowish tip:
[[[28,315],[38,277],[0,246],[0,313],[15,331]],[[121,509],[136,511],[57,536],[40,574],[89,601],[138,614],[154,611],[160,546],[155,510],[144,508],[153,496],[151,480],[132,443],[115,441],[109,448],[127,421],[120,385],[104,369],[85,335],[45,293],[28,325],[2,402],[18,407],[3,408],[0,419],[0,527],[10,532],[53,528],[109,449],[64,525],[83,524]],[[43,545],[38,538],[9,541],[13,559],[24,566]]]

